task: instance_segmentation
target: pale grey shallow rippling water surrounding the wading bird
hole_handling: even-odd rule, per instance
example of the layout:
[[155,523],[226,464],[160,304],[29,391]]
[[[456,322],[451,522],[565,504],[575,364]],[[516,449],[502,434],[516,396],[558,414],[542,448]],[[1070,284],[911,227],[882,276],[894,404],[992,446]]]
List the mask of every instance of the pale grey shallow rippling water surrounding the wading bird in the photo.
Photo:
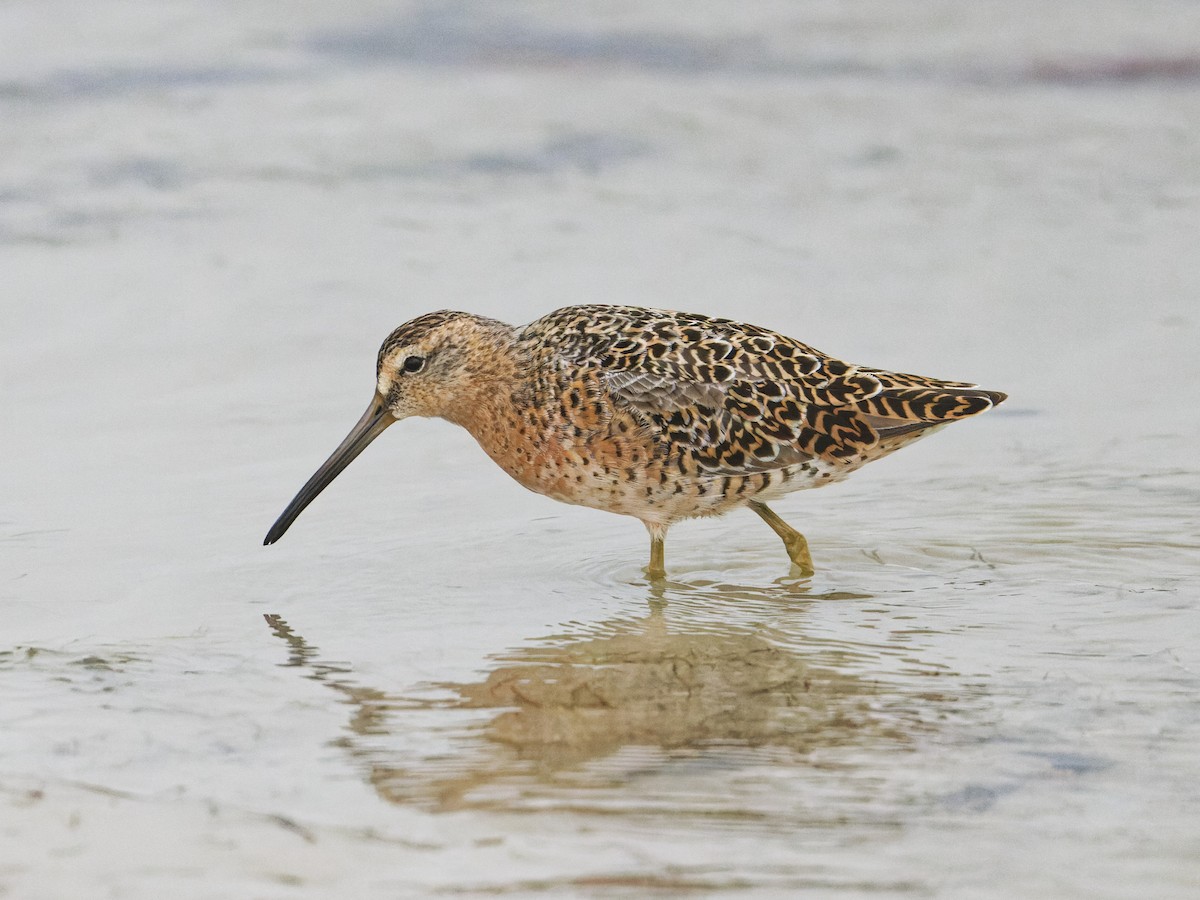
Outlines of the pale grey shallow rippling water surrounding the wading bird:
[[[1195,896],[1198,19],[5,5],[0,895]],[[428,421],[259,546],[394,325],[584,301],[1012,398],[811,580]]]

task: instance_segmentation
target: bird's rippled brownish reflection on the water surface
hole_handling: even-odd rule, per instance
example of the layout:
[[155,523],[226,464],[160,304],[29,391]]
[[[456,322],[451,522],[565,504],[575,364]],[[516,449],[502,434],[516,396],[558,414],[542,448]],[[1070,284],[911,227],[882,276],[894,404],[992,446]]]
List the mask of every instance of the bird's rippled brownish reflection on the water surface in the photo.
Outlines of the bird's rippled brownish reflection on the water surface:
[[728,626],[712,612],[714,598],[743,608],[750,598],[774,610],[781,596],[814,599],[776,588],[763,596],[690,587],[667,590],[670,602],[660,589],[646,614],[510,650],[481,680],[432,685],[440,689],[436,700],[364,686],[348,665],[322,661],[281,617],[266,620],[290,647],[286,665],[348,701],[347,733],[336,743],[382,798],[444,810],[518,809],[556,792],[562,800],[569,790],[577,808],[587,803],[581,791],[596,788],[595,799],[632,772],[643,776],[672,760],[707,755],[702,764],[719,766],[719,758],[786,754],[803,761],[830,748],[907,744],[919,718],[881,714],[880,683],[838,667],[835,649],[817,643],[803,653],[768,626]]

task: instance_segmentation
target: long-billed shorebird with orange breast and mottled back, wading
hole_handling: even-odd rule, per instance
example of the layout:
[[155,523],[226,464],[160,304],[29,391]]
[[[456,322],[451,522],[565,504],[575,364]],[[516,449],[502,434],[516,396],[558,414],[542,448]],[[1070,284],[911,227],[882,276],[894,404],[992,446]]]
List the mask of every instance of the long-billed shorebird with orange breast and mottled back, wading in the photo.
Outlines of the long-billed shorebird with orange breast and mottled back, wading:
[[530,491],[640,518],[650,577],[682,518],[749,506],[803,575],[808,542],[766,503],[820,487],[1004,400],[972,384],[852,366],[732,319],[569,306],[524,328],[431,312],[379,348],[376,395],[264,544],[410,415],[461,425]]

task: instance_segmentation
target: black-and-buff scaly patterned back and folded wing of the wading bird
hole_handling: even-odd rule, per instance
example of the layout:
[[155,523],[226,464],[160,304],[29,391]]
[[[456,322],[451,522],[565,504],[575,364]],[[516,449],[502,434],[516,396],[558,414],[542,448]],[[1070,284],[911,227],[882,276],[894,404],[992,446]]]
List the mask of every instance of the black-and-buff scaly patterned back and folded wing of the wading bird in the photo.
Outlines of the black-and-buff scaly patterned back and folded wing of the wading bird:
[[[1004,400],[972,384],[852,366],[731,319],[632,306],[557,310],[526,352],[595,371],[618,404],[714,474],[865,462]],[[884,444],[881,444],[884,442]]]

